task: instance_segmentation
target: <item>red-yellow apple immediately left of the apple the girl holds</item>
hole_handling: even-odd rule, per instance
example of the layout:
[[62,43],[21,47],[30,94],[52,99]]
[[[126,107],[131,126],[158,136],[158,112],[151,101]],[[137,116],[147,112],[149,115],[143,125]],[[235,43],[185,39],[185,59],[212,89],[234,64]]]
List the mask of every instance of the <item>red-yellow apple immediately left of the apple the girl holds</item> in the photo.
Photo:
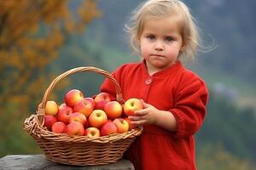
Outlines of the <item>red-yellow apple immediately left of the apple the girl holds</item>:
[[106,112],[108,119],[115,119],[122,115],[122,105],[117,101],[110,101],[104,106],[104,111]]

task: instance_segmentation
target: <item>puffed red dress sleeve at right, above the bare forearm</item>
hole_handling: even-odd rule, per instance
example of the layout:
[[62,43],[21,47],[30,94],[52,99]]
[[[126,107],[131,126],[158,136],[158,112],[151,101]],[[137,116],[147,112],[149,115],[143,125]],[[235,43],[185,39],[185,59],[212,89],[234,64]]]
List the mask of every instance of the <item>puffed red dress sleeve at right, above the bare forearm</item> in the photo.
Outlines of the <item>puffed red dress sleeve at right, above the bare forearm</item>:
[[188,137],[197,132],[205,118],[208,91],[199,78],[179,84],[171,112],[177,119],[176,137]]

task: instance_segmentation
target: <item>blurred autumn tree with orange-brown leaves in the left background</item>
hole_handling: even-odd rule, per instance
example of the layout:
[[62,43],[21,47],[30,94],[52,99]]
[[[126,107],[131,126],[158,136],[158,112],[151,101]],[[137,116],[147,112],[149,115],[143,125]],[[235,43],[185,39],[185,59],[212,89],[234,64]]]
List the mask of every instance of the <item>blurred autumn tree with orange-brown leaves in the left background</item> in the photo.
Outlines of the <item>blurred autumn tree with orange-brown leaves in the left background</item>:
[[[84,31],[91,20],[101,15],[96,0],[76,1],[72,8],[69,3],[67,0],[0,0],[2,125],[9,123],[11,127],[14,119],[32,114],[31,105],[35,106],[35,100],[42,98],[52,80],[45,68],[58,56],[58,49],[68,35]],[[8,130],[1,128],[0,141],[7,133]]]

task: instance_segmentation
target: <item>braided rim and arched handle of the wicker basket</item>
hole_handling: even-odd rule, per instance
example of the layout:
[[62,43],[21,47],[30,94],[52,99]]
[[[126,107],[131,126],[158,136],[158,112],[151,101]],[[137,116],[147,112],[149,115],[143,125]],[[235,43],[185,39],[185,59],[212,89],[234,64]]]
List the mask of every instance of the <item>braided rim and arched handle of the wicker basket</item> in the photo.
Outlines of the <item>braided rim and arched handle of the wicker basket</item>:
[[114,133],[112,135],[101,136],[97,138],[90,138],[87,136],[70,137],[65,133],[50,132],[46,127],[44,127],[44,115],[45,115],[46,102],[48,101],[49,94],[52,92],[55,85],[58,82],[60,82],[62,79],[66,78],[67,76],[72,75],[74,73],[82,72],[82,71],[92,71],[92,72],[102,74],[104,77],[108,77],[113,82],[113,85],[116,88],[117,101],[124,102],[124,99],[121,93],[121,88],[119,86],[119,82],[117,82],[108,71],[104,71],[102,69],[92,67],[92,66],[73,68],[71,70],[63,72],[58,77],[55,77],[55,79],[49,84],[49,87],[46,89],[44,93],[42,105],[38,107],[37,114],[26,118],[23,124],[23,128],[34,137],[48,139],[48,140],[55,140],[55,141],[67,140],[68,142],[75,142],[75,143],[86,142],[86,141],[91,141],[96,143],[108,143],[108,142],[113,142],[119,139],[126,139],[126,138],[136,137],[140,135],[143,131],[143,127],[137,127],[136,129],[132,129],[125,133]]

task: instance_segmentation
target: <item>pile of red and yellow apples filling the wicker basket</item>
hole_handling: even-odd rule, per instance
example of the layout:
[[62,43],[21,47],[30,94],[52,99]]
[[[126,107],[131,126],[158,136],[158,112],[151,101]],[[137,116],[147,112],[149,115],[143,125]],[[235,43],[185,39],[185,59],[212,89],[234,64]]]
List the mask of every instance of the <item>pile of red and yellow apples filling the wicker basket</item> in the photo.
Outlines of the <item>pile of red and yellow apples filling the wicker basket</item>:
[[67,133],[68,136],[100,137],[125,133],[136,128],[128,116],[143,109],[140,99],[131,98],[121,105],[112,101],[107,93],[85,98],[78,89],[68,91],[64,101],[61,105],[47,101],[44,126],[53,133]]

